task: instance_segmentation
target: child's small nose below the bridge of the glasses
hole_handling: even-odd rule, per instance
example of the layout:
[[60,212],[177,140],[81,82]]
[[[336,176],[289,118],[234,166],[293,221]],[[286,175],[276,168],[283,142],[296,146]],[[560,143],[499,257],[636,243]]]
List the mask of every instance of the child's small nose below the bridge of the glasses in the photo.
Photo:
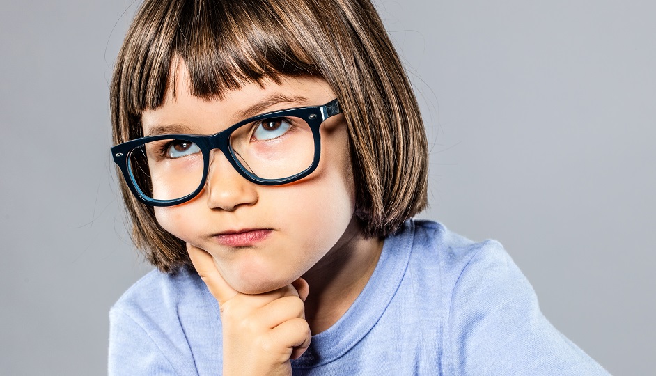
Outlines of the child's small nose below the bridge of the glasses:
[[219,149],[210,153],[210,171],[205,182],[210,209],[233,212],[258,201],[256,185],[244,179]]

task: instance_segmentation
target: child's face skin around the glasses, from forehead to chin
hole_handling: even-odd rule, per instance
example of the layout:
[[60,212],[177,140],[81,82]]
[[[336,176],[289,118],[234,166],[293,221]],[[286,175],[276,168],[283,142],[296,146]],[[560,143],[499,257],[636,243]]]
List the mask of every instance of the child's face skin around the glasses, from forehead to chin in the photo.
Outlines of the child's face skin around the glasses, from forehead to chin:
[[[173,93],[162,107],[144,111],[144,134],[175,125],[185,133],[214,134],[257,113],[321,105],[334,100],[322,79],[285,78],[281,84],[246,84],[224,100],[205,101],[189,94],[186,66],[178,67]],[[295,98],[281,102],[281,97]],[[249,116],[256,115],[251,113]],[[248,182],[219,150],[212,152],[208,184],[196,198],[173,207],[155,207],[162,227],[181,240],[208,251],[235,290],[254,294],[281,288],[331,251],[354,242],[354,185],[343,115],[321,125],[318,168],[297,182],[267,187]],[[243,235],[230,235],[243,232]],[[329,263],[328,260],[323,260]]]

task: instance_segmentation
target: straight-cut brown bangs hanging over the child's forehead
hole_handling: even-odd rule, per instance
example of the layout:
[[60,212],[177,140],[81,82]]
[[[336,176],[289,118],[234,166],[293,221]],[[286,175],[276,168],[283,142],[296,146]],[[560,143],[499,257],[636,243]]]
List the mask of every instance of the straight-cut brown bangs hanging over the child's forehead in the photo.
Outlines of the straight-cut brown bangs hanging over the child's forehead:
[[[313,55],[322,30],[315,13],[294,1],[150,1],[139,10],[116,65],[113,90],[125,115],[140,117],[173,90],[177,58],[189,71],[192,95],[221,99],[226,91],[281,75],[320,75]],[[173,69],[172,69],[173,68]],[[132,132],[128,132],[132,133]],[[134,134],[126,135],[133,138]]]

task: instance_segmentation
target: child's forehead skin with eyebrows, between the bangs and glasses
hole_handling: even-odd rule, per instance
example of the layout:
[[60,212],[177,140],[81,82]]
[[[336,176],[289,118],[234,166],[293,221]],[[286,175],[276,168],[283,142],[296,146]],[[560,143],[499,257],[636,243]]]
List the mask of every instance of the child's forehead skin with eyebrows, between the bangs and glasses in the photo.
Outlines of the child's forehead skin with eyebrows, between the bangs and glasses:
[[260,113],[322,105],[335,97],[327,82],[319,77],[281,76],[279,81],[246,81],[221,97],[201,98],[193,94],[185,63],[178,61],[174,70],[162,105],[141,113],[144,136],[214,134]]

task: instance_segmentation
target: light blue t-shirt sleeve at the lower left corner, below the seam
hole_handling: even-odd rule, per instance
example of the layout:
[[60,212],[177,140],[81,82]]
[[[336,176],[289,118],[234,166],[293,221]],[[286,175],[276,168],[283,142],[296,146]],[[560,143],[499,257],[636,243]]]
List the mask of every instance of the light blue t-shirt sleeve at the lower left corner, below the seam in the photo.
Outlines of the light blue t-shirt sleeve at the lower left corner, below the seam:
[[109,376],[178,375],[143,327],[117,308],[109,313]]

